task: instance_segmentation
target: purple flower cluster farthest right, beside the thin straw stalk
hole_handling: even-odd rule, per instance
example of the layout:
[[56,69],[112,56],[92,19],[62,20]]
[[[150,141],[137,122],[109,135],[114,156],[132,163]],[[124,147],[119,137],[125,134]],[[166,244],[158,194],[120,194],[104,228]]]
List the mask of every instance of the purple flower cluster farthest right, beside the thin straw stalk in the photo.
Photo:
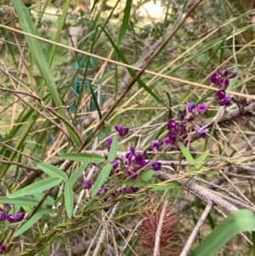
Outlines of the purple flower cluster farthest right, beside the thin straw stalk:
[[215,100],[219,105],[229,105],[231,98],[226,96],[226,89],[229,87],[229,80],[237,76],[237,72],[229,73],[229,70],[221,70],[214,72],[211,76],[211,82],[219,86],[220,89],[215,94]]

